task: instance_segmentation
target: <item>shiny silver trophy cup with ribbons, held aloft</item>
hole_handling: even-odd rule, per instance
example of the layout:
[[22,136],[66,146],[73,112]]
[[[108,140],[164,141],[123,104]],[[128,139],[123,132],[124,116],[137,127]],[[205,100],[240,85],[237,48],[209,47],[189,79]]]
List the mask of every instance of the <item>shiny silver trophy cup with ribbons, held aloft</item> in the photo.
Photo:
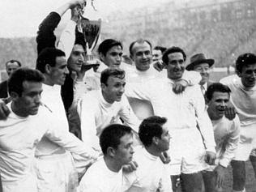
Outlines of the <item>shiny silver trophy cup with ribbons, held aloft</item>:
[[[92,7],[96,11],[95,6],[93,5],[93,0],[91,0]],[[86,6],[86,3],[84,7]],[[93,50],[96,47],[96,44],[99,40],[101,28],[101,19],[91,20],[86,19],[83,15],[80,15],[79,19],[79,31],[83,33],[84,40],[86,42],[86,51],[87,51],[87,62],[86,65],[99,65],[96,62],[96,57],[92,54]]]

